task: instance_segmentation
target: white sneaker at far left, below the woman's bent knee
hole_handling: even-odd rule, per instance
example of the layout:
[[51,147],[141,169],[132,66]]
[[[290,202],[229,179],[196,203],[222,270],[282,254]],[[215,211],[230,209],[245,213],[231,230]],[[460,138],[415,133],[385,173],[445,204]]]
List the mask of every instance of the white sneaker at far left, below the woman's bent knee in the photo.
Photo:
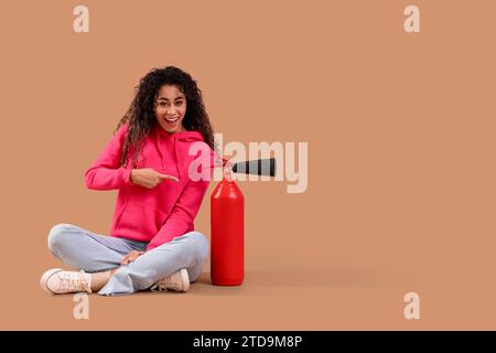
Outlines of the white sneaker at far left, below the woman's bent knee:
[[85,271],[64,271],[61,268],[52,268],[43,274],[40,279],[43,290],[53,295],[91,292],[91,275]]

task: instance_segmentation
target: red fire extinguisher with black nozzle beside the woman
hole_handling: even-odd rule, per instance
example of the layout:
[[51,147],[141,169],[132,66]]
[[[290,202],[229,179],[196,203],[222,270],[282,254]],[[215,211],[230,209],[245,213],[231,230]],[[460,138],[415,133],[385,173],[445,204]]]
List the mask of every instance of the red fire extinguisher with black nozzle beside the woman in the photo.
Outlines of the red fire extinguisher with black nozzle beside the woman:
[[223,159],[224,178],[211,196],[211,277],[217,286],[239,286],[245,278],[245,196],[235,173],[276,174],[276,159],[230,164]]

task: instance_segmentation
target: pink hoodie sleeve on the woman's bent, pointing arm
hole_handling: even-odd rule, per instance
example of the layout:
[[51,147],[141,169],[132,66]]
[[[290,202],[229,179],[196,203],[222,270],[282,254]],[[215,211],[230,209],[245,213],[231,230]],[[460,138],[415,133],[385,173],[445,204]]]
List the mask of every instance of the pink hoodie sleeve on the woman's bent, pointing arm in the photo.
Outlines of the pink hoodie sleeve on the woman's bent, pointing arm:
[[119,168],[126,135],[129,124],[125,124],[112,137],[98,159],[85,172],[85,182],[88,189],[112,190],[130,184],[132,169]]

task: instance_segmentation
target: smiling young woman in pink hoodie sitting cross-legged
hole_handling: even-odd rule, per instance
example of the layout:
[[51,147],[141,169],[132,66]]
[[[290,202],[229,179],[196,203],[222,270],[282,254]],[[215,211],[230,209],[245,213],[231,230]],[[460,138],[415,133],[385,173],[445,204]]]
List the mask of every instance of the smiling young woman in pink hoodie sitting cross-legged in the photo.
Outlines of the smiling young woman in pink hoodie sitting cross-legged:
[[213,129],[196,82],[174,66],[141,78],[111,141],[85,173],[88,189],[119,190],[111,236],[57,224],[50,250],[79,271],[43,274],[52,293],[187,291],[208,255],[193,222],[208,180],[191,178],[200,148],[213,158]]

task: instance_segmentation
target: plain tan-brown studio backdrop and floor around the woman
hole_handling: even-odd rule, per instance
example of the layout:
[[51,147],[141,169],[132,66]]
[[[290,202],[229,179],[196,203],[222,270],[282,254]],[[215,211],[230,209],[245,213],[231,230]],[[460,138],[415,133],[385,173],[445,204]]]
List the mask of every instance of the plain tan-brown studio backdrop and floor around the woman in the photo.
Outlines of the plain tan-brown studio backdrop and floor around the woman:
[[[72,30],[89,8],[89,34]],[[421,33],[403,31],[403,9]],[[0,329],[496,329],[494,1],[2,6]],[[197,79],[225,142],[308,141],[309,188],[241,182],[246,281],[51,297],[57,223],[107,234],[83,174],[150,68]],[[209,201],[196,227],[209,236]],[[420,296],[420,320],[403,296]]]

